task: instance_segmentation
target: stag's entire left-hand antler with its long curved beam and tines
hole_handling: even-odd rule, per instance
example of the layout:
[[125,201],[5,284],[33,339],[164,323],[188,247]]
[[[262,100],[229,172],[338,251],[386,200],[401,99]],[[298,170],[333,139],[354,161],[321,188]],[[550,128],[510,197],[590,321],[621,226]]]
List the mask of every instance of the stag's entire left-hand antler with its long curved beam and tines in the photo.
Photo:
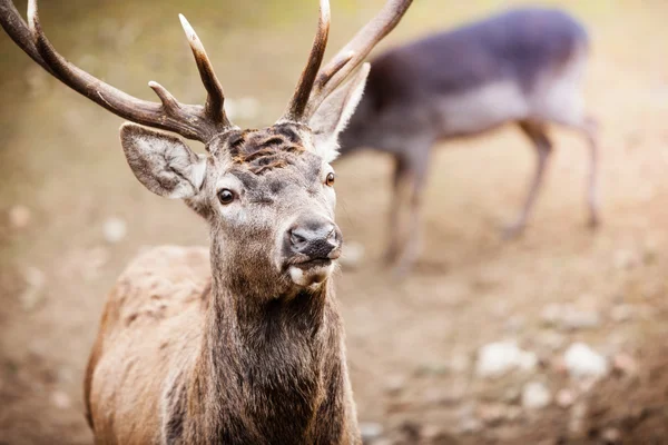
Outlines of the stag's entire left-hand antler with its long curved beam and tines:
[[232,127],[223,108],[225,97],[220,82],[202,41],[180,16],[181,24],[193,49],[199,76],[208,96],[206,105],[178,102],[157,82],[149,82],[161,103],[137,99],[92,77],[60,56],[42,32],[37,0],[28,1],[28,26],[11,0],[0,0],[0,24],[11,39],[32,60],[75,91],[132,122],[174,131],[188,139],[208,142],[216,134]]

